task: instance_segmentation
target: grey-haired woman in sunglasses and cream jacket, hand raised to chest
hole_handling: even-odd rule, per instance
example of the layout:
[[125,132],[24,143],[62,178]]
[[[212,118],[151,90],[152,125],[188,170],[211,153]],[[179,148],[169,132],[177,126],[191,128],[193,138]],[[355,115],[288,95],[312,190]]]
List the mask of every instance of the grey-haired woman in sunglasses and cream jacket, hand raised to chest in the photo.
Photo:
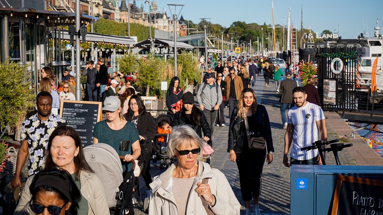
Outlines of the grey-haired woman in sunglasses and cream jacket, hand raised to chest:
[[150,184],[149,215],[239,215],[239,202],[226,177],[197,160],[202,148],[190,126],[173,128],[168,155],[177,162]]

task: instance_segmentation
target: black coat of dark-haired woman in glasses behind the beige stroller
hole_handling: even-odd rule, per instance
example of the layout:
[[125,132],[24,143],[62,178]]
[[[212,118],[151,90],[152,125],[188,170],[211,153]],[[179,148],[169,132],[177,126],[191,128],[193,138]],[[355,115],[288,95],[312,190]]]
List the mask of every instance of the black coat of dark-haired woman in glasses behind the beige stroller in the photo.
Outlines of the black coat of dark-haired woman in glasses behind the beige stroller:
[[[124,114],[124,117],[127,121],[132,121],[133,113],[128,115],[129,112]],[[152,141],[156,137],[157,124],[154,121],[153,116],[148,113],[142,113],[137,120],[137,130],[138,134],[145,138],[146,148],[148,151],[152,151]]]

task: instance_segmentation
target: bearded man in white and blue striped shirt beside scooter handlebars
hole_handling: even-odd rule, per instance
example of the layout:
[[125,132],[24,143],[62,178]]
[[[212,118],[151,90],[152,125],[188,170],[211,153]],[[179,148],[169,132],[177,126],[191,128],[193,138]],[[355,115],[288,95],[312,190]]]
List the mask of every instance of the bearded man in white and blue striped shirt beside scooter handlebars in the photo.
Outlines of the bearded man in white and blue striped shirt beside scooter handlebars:
[[[288,112],[287,130],[285,134],[285,150],[283,164],[290,167],[292,164],[322,164],[318,149],[301,151],[301,148],[311,146],[313,142],[321,139],[327,140],[325,115],[322,108],[306,101],[307,94],[303,87],[293,90],[295,106]],[[287,157],[291,144],[290,163]]]

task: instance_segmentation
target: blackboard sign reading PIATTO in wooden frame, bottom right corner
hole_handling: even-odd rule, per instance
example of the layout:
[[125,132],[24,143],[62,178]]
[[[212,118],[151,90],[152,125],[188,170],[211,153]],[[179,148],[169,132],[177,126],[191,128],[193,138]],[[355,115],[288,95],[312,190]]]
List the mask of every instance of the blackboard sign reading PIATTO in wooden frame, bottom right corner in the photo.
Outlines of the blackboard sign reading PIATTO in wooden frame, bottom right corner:
[[383,215],[383,181],[338,176],[331,215]]

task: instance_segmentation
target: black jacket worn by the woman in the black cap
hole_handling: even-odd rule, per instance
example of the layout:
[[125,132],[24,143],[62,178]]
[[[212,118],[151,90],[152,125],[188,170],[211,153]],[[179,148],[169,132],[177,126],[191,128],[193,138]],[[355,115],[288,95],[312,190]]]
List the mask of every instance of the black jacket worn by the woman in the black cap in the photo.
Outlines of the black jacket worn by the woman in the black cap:
[[[177,125],[189,124],[192,126],[192,128],[195,130],[195,132],[198,134],[199,137],[202,138],[202,131],[203,131],[203,135],[211,139],[211,130],[205,115],[200,109],[196,108],[195,110],[198,111],[198,114],[201,120],[201,127],[197,123],[192,121],[192,119],[189,120],[188,117],[186,117],[184,108],[182,108],[180,111],[174,114],[173,125],[177,126]],[[208,143],[210,142],[211,141],[208,141]]]

